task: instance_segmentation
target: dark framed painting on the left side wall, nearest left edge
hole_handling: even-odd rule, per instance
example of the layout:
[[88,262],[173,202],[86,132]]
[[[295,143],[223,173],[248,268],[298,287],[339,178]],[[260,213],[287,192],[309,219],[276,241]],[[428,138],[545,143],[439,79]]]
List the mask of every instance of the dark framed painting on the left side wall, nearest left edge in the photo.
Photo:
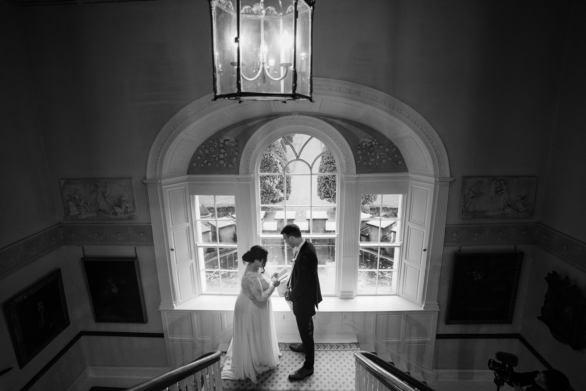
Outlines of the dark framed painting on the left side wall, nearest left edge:
[[19,368],[33,359],[69,326],[61,269],[57,269],[4,304]]

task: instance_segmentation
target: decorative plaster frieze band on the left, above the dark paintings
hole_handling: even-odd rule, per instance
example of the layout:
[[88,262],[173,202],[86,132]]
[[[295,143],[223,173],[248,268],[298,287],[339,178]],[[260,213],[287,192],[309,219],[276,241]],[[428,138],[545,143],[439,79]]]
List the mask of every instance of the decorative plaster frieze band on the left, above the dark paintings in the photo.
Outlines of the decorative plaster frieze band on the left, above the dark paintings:
[[0,275],[67,243],[123,243],[152,246],[152,228],[150,224],[59,223],[0,249]]

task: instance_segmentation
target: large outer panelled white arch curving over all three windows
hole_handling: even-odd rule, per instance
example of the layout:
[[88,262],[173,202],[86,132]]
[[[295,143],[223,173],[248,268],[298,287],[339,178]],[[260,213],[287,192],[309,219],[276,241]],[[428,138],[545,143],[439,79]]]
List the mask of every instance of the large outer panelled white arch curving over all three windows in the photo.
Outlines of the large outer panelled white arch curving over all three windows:
[[189,159],[214,132],[248,118],[268,114],[324,114],[364,123],[392,140],[411,174],[449,177],[448,155],[439,135],[417,111],[369,87],[331,79],[314,79],[314,102],[193,101],[165,124],[151,147],[147,179],[186,175]]

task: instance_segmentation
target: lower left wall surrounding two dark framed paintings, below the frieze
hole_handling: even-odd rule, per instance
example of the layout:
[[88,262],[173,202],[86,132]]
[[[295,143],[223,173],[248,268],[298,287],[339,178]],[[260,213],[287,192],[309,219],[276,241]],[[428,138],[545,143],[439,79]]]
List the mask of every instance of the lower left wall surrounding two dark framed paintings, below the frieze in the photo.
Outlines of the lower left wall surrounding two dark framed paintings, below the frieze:
[[[85,246],[84,250],[86,256],[134,256],[134,247],[127,246]],[[6,391],[20,389],[79,331],[163,332],[161,316],[158,312],[161,298],[156,279],[153,247],[137,247],[137,255],[147,307],[147,324],[94,322],[80,261],[80,258],[83,257],[81,246],[59,247],[45,257],[18,268],[0,280],[0,302],[4,303],[28,285],[60,268],[70,318],[69,327],[24,368],[18,369],[8,325],[5,317],[2,317],[0,319],[0,346],[5,346],[5,349],[0,355],[0,368],[12,366],[13,369],[0,377],[0,388]],[[34,389],[67,389],[86,366],[166,367],[168,365],[165,342],[162,338],[84,336],[38,380]]]

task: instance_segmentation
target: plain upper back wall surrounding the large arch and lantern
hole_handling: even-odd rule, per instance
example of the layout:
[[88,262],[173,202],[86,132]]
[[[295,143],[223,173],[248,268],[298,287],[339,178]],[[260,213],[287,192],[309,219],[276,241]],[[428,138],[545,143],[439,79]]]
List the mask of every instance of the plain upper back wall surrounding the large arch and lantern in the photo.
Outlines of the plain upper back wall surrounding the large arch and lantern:
[[[148,222],[138,181],[152,141],[180,108],[212,92],[207,3],[22,12],[54,198],[61,178],[132,176],[136,222]],[[314,75],[365,84],[415,108],[440,134],[456,178],[543,178],[566,13],[564,4],[502,12],[496,2],[323,1]],[[448,223],[462,222],[459,192],[456,181]]]

